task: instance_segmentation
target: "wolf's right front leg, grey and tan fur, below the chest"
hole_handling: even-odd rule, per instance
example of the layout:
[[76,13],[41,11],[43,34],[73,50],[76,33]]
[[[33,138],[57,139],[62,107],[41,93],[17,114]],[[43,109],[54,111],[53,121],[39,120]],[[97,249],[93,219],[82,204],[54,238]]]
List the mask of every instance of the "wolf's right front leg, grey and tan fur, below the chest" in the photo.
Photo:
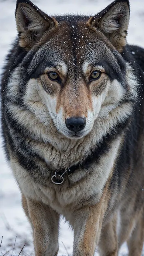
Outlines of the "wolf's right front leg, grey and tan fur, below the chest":
[[103,205],[85,207],[74,213],[73,256],[93,256],[101,232]]

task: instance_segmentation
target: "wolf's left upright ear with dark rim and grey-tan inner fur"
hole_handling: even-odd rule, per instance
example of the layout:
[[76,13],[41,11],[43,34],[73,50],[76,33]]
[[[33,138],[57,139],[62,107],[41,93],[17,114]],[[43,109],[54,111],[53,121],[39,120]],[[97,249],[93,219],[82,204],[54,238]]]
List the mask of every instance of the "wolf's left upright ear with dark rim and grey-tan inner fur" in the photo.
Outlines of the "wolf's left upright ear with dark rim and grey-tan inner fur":
[[16,26],[19,32],[19,45],[29,51],[39,38],[57,21],[42,12],[28,0],[17,0],[15,10]]

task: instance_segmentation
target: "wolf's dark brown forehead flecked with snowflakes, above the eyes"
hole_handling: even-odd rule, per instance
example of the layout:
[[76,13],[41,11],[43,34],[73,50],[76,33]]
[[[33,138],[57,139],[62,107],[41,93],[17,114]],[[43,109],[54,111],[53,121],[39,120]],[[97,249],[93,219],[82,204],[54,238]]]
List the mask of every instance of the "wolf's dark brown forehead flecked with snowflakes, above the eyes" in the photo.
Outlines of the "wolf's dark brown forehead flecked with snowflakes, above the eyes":
[[39,49],[39,59],[45,68],[56,67],[64,76],[69,72],[87,73],[92,65],[101,66],[101,69],[113,66],[120,72],[119,61],[97,33],[91,36],[88,28],[85,30],[76,23],[60,25],[56,32]]

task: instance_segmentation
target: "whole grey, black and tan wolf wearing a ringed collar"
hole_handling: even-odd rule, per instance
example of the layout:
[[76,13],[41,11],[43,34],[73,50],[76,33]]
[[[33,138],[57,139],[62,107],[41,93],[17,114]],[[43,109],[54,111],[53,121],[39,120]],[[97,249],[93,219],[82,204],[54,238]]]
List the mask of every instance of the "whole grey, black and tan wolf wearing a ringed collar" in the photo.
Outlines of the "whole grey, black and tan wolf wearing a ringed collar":
[[36,256],[57,255],[61,215],[73,256],[142,253],[144,50],[127,44],[129,16],[128,0],[55,17],[17,1],[1,119]]

